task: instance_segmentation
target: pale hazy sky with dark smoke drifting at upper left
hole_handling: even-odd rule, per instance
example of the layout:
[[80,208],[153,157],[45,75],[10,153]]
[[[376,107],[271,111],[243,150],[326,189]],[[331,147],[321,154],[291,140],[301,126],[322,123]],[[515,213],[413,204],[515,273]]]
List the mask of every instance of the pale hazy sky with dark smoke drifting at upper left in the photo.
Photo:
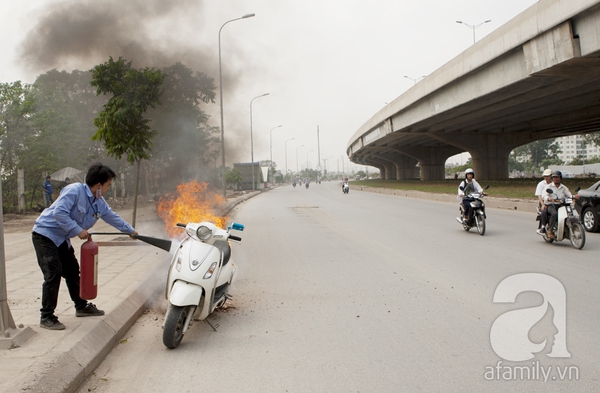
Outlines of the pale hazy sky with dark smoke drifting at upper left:
[[[537,0],[27,0],[0,3],[0,82],[87,70],[109,56],[135,67],[177,61],[214,77],[221,33],[226,158],[285,170],[350,164],[357,129],[418,79]],[[205,108],[220,126],[219,98]],[[271,129],[282,125],[282,127]],[[298,146],[304,145],[298,148]],[[321,161],[323,162],[323,161]]]

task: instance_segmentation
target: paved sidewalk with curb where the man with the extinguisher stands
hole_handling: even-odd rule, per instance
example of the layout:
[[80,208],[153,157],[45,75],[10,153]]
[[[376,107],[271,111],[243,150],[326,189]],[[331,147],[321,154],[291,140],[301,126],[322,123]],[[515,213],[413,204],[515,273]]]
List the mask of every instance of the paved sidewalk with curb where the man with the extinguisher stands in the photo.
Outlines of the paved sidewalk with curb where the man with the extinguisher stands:
[[[259,193],[230,198],[219,213],[226,215],[235,205]],[[131,222],[131,210],[118,213]],[[166,238],[164,223],[156,216],[153,205],[138,208],[136,221],[136,230],[141,235]],[[100,220],[91,231],[114,232],[114,228]],[[99,284],[98,296],[92,303],[106,314],[76,318],[63,280],[56,316],[66,329],[50,331],[39,327],[43,278],[31,243],[31,228],[4,235],[8,305],[19,336],[25,340],[9,343],[13,348],[0,349],[0,392],[76,391],[147,304],[163,296],[171,254],[128,239],[127,236],[94,237],[99,244]],[[114,245],[119,242],[123,245]],[[82,243],[78,238],[72,239],[78,258]],[[171,252],[174,247],[176,242]],[[0,344],[6,345],[7,341],[10,339],[0,336]]]

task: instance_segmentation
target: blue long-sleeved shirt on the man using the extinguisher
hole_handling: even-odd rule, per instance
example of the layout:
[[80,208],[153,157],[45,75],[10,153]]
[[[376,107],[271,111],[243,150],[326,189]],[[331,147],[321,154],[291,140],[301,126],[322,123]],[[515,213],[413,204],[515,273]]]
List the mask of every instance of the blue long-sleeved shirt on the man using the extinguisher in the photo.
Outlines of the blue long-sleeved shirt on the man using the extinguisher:
[[73,183],[63,188],[52,206],[35,220],[33,232],[46,236],[57,247],[65,241],[71,246],[70,239],[83,229],[93,227],[99,218],[121,232],[134,232],[131,225],[112,211],[104,198],[92,195],[87,184]]

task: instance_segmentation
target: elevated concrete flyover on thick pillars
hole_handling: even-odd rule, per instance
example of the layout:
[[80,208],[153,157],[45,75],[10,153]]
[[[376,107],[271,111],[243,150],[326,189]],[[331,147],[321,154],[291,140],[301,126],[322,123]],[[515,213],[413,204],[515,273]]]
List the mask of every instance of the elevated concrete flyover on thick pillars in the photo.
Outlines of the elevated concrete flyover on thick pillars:
[[540,0],[386,105],[346,152],[384,179],[438,180],[468,151],[478,178],[501,179],[515,147],[597,131],[600,0]]

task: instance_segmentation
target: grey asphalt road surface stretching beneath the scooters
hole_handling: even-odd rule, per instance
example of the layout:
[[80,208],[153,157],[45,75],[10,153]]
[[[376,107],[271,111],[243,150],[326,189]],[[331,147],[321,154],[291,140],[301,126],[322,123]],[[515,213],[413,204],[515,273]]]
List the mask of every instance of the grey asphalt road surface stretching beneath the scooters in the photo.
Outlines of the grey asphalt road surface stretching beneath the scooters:
[[[246,231],[233,246],[232,307],[211,318],[218,332],[197,323],[179,348],[166,349],[158,300],[80,392],[596,389],[600,234],[581,251],[548,245],[534,232],[534,214],[489,209],[481,237],[462,230],[457,211],[443,202],[344,195],[333,182],[252,198],[233,212]],[[531,291],[514,304],[493,303],[498,284],[519,273],[557,279],[566,306]],[[549,299],[553,307],[530,321],[527,336],[548,338],[546,347],[520,363],[497,355],[496,318]],[[551,358],[565,310],[571,357]],[[540,370],[551,372],[547,382]],[[519,375],[529,380],[508,381]]]

